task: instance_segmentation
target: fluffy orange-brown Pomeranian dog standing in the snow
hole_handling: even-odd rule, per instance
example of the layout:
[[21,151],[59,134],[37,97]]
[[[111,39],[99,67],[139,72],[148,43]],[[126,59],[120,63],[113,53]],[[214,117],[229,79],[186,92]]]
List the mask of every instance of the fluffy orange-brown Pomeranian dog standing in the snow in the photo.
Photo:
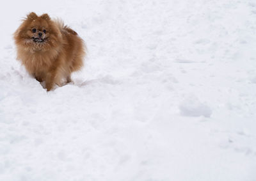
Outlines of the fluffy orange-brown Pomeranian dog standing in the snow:
[[15,31],[14,39],[17,59],[37,81],[45,81],[47,91],[54,84],[69,83],[70,74],[83,67],[83,40],[76,31],[46,13],[29,13]]

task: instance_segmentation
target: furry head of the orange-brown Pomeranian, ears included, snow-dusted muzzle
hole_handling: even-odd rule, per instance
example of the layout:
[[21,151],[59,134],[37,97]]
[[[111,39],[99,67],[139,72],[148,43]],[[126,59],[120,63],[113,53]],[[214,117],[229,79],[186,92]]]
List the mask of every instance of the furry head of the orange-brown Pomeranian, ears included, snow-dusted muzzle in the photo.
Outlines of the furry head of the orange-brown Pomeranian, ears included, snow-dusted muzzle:
[[56,47],[60,40],[60,30],[47,14],[38,17],[36,13],[29,13],[15,32],[15,42],[17,44],[35,51],[44,51]]

